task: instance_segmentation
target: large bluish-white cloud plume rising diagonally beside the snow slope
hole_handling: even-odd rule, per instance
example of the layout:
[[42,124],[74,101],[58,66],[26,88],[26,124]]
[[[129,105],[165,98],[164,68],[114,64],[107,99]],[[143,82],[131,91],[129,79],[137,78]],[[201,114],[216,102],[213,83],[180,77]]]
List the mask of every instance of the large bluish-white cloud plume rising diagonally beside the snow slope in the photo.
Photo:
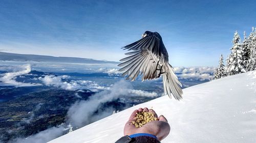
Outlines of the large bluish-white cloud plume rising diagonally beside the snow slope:
[[[90,123],[91,119],[99,118],[93,117],[93,113],[98,109],[101,103],[110,102],[124,96],[143,96],[156,97],[157,93],[149,93],[141,90],[133,90],[130,82],[121,80],[116,82],[109,90],[96,93],[86,101],[76,102],[69,108],[67,113],[68,121],[74,127],[81,127]],[[90,107],[90,108],[89,108]],[[104,109],[105,113],[111,115],[113,109]],[[106,115],[101,117],[106,117]]]

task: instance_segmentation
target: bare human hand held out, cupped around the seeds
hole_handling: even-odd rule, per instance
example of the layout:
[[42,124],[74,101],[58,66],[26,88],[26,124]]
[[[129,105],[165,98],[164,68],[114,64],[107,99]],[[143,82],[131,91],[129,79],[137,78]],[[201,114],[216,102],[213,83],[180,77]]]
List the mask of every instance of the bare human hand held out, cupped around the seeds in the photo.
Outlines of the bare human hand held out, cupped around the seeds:
[[157,121],[148,122],[142,127],[136,128],[135,125],[132,124],[135,121],[136,112],[147,111],[152,112],[156,118],[158,118],[156,112],[153,109],[148,110],[148,108],[139,108],[138,110],[134,110],[129,120],[126,122],[123,130],[124,135],[132,135],[135,133],[149,133],[155,135],[159,141],[164,139],[170,132],[170,126],[168,121],[164,116],[159,116]]

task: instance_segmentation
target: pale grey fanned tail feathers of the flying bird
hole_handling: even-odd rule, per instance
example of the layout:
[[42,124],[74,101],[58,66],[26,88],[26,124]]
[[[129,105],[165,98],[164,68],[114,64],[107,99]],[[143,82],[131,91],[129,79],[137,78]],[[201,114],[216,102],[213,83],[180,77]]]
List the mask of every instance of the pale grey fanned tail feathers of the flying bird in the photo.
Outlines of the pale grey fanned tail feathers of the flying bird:
[[165,73],[163,73],[164,94],[167,94],[169,98],[172,98],[171,93],[173,93],[174,98],[180,100],[182,99],[183,94],[181,87],[182,84],[175,75],[173,67],[167,63]]

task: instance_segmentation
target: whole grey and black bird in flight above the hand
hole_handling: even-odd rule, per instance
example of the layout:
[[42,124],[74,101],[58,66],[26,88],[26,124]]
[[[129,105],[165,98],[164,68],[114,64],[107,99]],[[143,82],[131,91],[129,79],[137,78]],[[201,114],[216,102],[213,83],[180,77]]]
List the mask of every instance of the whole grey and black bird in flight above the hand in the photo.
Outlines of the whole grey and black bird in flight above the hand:
[[124,50],[133,50],[125,53],[130,55],[120,61],[118,66],[123,67],[122,76],[128,75],[126,79],[134,81],[138,75],[142,75],[142,81],[146,79],[159,78],[162,75],[164,94],[175,99],[182,99],[181,83],[174,73],[173,67],[168,63],[168,53],[163,44],[162,37],[157,32],[146,31],[142,39],[122,47]]

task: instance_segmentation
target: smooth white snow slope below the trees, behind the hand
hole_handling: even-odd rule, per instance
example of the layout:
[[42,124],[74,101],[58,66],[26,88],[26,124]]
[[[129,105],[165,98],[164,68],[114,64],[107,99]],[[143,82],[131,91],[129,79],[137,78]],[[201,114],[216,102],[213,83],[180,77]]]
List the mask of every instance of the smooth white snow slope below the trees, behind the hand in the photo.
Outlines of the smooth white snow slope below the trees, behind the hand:
[[133,110],[153,107],[170,123],[162,142],[256,142],[256,71],[186,88],[184,100],[167,96],[133,106],[51,140],[115,142]]

